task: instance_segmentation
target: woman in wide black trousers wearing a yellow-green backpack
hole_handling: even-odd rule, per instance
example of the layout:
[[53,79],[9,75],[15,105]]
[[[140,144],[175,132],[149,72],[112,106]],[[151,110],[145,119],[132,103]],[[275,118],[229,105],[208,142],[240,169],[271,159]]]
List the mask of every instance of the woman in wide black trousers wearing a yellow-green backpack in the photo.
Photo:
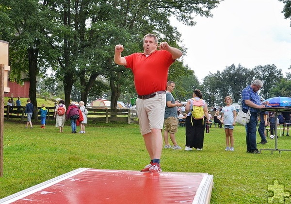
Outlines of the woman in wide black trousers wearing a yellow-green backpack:
[[208,107],[202,99],[199,89],[194,89],[193,98],[186,103],[186,151],[202,150],[204,143],[204,130],[206,122],[209,122]]

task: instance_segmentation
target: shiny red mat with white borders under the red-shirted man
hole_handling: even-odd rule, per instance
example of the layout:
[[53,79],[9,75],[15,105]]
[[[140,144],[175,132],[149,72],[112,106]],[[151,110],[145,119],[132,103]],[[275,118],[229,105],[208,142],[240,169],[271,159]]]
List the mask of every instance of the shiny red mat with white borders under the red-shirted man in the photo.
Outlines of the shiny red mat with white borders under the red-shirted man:
[[209,203],[207,173],[78,169],[0,200],[14,204]]

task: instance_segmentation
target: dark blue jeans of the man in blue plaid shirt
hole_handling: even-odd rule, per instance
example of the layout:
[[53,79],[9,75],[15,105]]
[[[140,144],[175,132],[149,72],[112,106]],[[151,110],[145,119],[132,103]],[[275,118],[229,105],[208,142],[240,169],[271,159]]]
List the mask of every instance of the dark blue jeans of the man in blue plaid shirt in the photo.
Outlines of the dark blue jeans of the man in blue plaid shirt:
[[251,112],[250,122],[246,123],[246,150],[253,151],[257,149],[256,133],[258,124],[258,113]]

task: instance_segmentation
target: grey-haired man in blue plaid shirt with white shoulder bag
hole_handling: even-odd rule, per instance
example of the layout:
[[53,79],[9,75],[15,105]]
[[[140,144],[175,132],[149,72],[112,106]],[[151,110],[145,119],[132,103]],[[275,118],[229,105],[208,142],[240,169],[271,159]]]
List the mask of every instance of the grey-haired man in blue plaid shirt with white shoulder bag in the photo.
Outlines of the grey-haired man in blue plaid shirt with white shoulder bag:
[[246,152],[260,153],[257,149],[256,133],[258,124],[258,115],[261,108],[266,107],[269,102],[261,102],[258,94],[263,86],[262,81],[256,79],[251,85],[242,90],[242,111],[247,113],[250,109],[251,117],[249,123],[246,123]]

